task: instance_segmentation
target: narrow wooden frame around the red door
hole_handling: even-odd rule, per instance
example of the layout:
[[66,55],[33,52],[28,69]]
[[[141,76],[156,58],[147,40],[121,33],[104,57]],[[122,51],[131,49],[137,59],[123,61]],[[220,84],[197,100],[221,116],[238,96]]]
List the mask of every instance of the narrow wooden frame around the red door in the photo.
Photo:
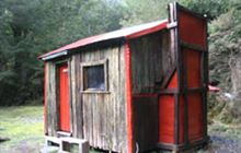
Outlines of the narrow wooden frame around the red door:
[[[66,131],[61,131],[60,130],[60,127],[59,127],[59,66],[64,64],[64,63],[67,63],[67,67],[68,67],[68,83],[69,83],[69,120],[70,120],[70,131],[69,132],[66,132]],[[56,133],[58,134],[59,132],[66,132],[66,133],[69,133],[69,136],[72,136],[72,96],[71,96],[71,67],[70,67],[70,58],[67,58],[67,59],[62,59],[62,60],[58,60],[58,61],[55,61],[55,78],[56,78],[56,108],[57,108],[57,127],[56,127]]]

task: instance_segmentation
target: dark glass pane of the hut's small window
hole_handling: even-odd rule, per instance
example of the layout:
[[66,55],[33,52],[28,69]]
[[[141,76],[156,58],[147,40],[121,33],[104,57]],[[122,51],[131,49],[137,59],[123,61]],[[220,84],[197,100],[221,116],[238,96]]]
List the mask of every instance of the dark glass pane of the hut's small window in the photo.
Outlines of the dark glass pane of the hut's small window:
[[84,68],[85,90],[105,90],[104,83],[104,66],[92,66]]

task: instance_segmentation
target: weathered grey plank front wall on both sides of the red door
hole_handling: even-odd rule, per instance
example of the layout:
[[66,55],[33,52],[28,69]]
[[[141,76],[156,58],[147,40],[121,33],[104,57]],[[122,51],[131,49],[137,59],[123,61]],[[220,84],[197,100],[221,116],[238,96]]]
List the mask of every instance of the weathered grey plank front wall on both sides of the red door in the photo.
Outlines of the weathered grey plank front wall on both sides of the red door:
[[[87,139],[91,146],[127,152],[125,57],[124,47],[84,50],[68,57],[70,82],[71,134]],[[82,92],[82,63],[107,61],[106,92]],[[46,133],[57,137],[58,131],[58,81],[56,61],[45,64],[46,83]]]

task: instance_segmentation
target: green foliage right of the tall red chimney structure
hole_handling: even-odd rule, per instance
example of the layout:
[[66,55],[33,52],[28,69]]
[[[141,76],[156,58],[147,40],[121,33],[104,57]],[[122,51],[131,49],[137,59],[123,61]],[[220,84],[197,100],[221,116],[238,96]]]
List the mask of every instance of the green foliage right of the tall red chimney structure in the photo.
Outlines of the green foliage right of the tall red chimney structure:
[[[240,122],[238,118],[241,115],[240,14],[241,2],[230,1],[228,11],[209,24],[209,78],[220,81],[221,87],[220,95],[216,95],[218,102],[211,111],[217,111],[217,119],[227,123]],[[231,99],[223,97],[225,92],[232,94],[233,97]]]

